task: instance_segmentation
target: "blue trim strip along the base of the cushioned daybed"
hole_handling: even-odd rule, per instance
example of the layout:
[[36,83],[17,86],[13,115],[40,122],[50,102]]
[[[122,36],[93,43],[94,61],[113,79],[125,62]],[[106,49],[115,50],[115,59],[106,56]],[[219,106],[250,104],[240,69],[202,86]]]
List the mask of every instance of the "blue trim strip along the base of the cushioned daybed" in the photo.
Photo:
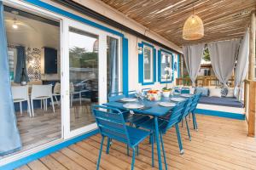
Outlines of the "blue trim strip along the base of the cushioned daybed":
[[245,120],[245,114],[238,114],[238,113],[225,112],[225,111],[195,109],[195,113],[201,114],[201,115],[208,115],[208,116],[219,116],[219,117],[226,117],[231,119]]

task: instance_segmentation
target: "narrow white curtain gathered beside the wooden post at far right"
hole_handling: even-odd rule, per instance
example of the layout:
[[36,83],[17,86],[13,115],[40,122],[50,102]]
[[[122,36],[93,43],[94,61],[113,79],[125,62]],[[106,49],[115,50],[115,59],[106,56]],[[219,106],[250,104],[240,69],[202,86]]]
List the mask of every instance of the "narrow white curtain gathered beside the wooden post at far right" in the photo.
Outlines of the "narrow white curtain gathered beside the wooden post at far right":
[[243,93],[243,81],[247,77],[249,62],[249,32],[248,29],[243,36],[239,47],[239,54],[236,64],[236,74],[235,74],[235,88],[238,89],[236,97],[241,100]]

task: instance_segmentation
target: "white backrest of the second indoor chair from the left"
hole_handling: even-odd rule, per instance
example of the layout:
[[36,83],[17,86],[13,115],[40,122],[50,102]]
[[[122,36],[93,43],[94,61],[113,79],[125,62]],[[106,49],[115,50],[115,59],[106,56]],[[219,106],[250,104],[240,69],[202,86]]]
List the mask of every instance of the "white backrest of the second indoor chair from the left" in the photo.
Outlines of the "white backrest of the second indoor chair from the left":
[[52,97],[52,85],[32,85],[31,98]]

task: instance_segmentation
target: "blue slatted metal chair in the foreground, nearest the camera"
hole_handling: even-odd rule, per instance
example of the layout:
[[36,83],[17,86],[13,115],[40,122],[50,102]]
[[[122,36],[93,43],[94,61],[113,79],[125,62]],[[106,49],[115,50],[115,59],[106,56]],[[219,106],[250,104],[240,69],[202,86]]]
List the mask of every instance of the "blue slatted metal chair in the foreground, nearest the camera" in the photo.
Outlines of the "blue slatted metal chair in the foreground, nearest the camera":
[[102,147],[104,139],[105,137],[107,137],[107,154],[109,153],[110,139],[117,140],[119,142],[127,144],[128,150],[129,148],[132,149],[133,153],[131,161],[131,170],[133,170],[135,163],[136,148],[138,144],[143,142],[143,140],[150,135],[150,132],[135,127],[126,126],[123,113],[118,109],[102,105],[94,105],[92,107],[92,112],[96,118],[96,123],[99,127],[99,132],[102,134],[102,143],[100,147],[100,153],[96,169],[99,169],[102,156]]

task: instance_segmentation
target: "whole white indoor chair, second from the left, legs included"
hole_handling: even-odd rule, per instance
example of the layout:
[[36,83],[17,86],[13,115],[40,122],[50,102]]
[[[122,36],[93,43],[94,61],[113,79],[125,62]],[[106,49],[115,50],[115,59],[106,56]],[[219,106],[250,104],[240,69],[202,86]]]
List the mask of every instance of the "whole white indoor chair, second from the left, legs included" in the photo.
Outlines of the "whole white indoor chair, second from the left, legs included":
[[33,108],[33,100],[35,100],[35,99],[41,100],[41,108],[42,108],[42,100],[43,100],[44,111],[47,111],[47,99],[50,99],[53,112],[55,113],[55,105],[54,105],[54,100],[53,100],[51,84],[49,84],[49,85],[32,85],[32,91],[31,91],[32,116],[35,116],[34,108]]

